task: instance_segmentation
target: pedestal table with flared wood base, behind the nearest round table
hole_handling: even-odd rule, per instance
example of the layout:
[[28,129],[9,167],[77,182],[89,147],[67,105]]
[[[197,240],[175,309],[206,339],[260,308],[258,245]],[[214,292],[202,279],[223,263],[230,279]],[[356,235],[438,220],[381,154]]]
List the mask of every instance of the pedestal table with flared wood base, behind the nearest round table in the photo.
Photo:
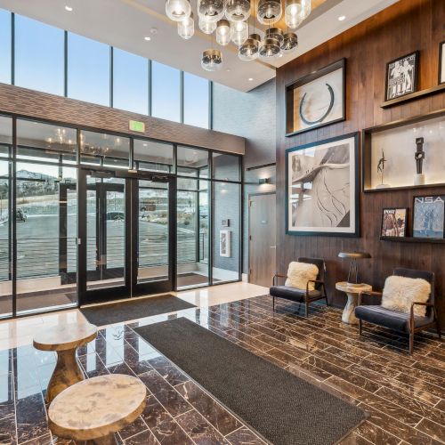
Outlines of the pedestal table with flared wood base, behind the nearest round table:
[[76,357],[76,350],[97,336],[97,328],[89,323],[67,323],[44,329],[34,336],[34,347],[40,351],[57,352],[57,363],[46,390],[46,401],[51,403],[57,394],[72,384],[84,380]]

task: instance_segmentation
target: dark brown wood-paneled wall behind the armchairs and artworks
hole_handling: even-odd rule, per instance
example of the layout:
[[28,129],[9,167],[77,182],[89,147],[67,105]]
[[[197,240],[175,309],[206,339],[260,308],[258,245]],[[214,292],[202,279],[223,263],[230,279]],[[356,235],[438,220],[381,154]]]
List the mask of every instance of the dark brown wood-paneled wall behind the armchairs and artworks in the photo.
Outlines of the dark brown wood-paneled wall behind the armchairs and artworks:
[[[345,296],[335,290],[335,283],[346,278],[349,266],[347,261],[337,257],[342,250],[365,250],[372,255],[371,260],[360,263],[360,272],[362,281],[376,289],[383,287],[385,277],[397,266],[434,271],[436,292],[440,295],[441,325],[445,329],[445,245],[393,243],[379,239],[383,207],[411,209],[413,195],[445,193],[445,188],[360,193],[360,239],[286,235],[284,211],[287,148],[445,108],[445,93],[390,109],[380,108],[384,101],[386,62],[401,55],[419,50],[419,89],[437,85],[442,40],[445,40],[444,0],[401,0],[278,69],[277,264],[280,271],[286,271],[287,264],[300,255],[325,258],[329,299],[338,306],[344,305]],[[346,121],[286,138],[285,85],[343,57],[346,58]],[[406,156],[413,158],[413,163],[415,149],[413,140],[413,144],[406,147]]]

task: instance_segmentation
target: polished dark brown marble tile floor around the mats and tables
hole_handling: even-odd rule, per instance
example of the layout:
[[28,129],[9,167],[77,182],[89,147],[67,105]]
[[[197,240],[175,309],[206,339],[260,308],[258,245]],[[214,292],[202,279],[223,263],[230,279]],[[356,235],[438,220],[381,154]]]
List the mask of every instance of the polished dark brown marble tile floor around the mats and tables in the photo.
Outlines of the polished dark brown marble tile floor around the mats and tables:
[[[136,375],[148,388],[146,409],[118,441],[263,443],[132,329],[183,316],[367,410],[368,420],[343,445],[445,443],[444,341],[433,334],[418,335],[409,356],[407,338],[398,334],[367,327],[360,338],[357,328],[341,322],[341,311],[322,305],[312,305],[304,319],[299,304],[279,300],[273,313],[270,297],[258,296],[263,288],[242,286],[247,295],[242,300],[236,295],[239,287],[231,285],[214,287],[218,295],[190,291],[184,299],[194,298],[198,308],[102,328],[94,342],[78,351],[88,376]],[[44,327],[51,316],[40,317],[36,326]],[[79,315],[69,312],[67,317]],[[17,328],[26,332],[17,338],[32,336],[31,326]],[[24,342],[0,351],[0,443],[66,443],[52,438],[46,424],[44,391],[55,356]],[[315,433],[316,422],[322,419],[314,419]]]

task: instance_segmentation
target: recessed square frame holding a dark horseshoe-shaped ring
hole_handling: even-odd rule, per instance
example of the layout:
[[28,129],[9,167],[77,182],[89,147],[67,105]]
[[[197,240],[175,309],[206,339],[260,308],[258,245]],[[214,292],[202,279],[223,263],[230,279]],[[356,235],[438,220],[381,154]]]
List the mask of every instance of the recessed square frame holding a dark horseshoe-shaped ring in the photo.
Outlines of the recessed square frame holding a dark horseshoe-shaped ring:
[[345,119],[345,63],[342,59],[286,86],[286,135]]

